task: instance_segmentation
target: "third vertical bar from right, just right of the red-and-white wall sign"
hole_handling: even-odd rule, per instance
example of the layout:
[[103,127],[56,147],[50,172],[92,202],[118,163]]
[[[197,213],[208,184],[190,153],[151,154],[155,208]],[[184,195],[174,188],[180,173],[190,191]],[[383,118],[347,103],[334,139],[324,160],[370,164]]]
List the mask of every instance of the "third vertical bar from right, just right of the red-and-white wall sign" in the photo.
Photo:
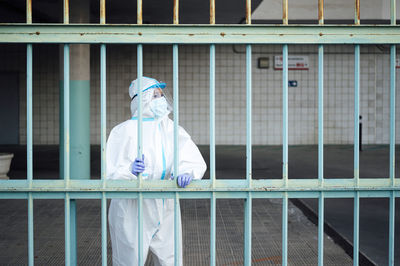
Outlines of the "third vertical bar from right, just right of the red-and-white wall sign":
[[[321,0],[322,1],[322,0]],[[320,2],[321,2],[320,1]],[[321,23],[321,19],[320,19]],[[322,18],[323,23],[323,18]],[[324,46],[318,45],[318,179],[324,185]],[[324,192],[318,204],[318,265],[324,265]]]

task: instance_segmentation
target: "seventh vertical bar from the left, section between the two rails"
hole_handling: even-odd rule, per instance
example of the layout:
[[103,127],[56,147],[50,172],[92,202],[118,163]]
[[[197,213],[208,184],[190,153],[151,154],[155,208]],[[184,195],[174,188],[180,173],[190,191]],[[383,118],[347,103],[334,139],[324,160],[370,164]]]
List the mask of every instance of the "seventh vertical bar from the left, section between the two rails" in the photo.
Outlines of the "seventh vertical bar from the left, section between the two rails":
[[248,187],[251,187],[252,178],[252,113],[251,113],[251,94],[252,94],[252,73],[251,73],[251,45],[246,45],[246,179]]

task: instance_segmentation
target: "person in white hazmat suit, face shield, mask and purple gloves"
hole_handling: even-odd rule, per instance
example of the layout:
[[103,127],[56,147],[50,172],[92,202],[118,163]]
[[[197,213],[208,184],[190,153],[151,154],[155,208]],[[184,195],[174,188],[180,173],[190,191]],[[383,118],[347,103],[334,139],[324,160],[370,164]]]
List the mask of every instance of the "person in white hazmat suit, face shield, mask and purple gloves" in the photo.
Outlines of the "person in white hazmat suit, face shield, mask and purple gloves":
[[[174,179],[174,127],[168,117],[171,105],[164,94],[166,84],[142,77],[143,157],[137,154],[138,80],[129,87],[131,119],[114,127],[107,140],[107,179]],[[189,134],[179,127],[179,174],[184,188],[192,179],[201,179],[206,163]],[[177,210],[180,217],[180,209]],[[155,265],[174,265],[174,199],[143,200],[143,259],[152,251]],[[109,214],[113,265],[138,265],[137,199],[112,199]],[[179,228],[181,221],[179,219]],[[181,240],[181,229],[179,239]],[[182,244],[179,264],[182,265]]]

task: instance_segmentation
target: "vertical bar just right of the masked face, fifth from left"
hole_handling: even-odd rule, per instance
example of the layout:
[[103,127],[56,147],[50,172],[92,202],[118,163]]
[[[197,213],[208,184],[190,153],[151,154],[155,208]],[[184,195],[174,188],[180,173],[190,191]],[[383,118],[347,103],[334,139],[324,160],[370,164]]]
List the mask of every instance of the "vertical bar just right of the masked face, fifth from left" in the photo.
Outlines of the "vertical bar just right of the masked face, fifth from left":
[[[176,0],[177,1],[177,0]],[[175,13],[174,13],[175,15]],[[175,16],[174,16],[175,22]],[[173,86],[174,86],[174,175],[179,175],[179,54],[178,45],[172,46],[172,64],[173,64]],[[179,265],[180,252],[180,228],[179,228],[179,195],[175,193],[175,208],[174,208],[174,247],[175,247],[175,265]]]

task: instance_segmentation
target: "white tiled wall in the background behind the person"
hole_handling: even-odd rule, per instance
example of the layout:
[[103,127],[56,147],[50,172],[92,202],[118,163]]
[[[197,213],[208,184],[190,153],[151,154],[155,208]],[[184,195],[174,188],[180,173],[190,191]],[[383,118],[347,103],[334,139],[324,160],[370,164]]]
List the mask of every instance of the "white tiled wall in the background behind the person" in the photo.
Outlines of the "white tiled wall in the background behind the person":
[[[387,47],[362,46],[360,114],[363,143],[389,142],[389,55]],[[253,143],[282,143],[282,71],[273,69],[279,45],[253,46]],[[354,48],[325,46],[325,143],[353,143]],[[383,52],[384,51],[384,52]],[[25,46],[0,46],[0,71],[20,73],[20,142],[26,143]],[[100,143],[99,47],[91,49],[91,142]],[[309,70],[289,71],[289,144],[318,141],[318,57],[315,45],[289,46],[289,54],[307,55]],[[59,48],[34,46],[34,144],[57,144],[59,137]],[[270,68],[257,68],[269,57]],[[180,122],[198,144],[209,143],[209,47],[179,47]],[[144,75],[165,81],[172,89],[172,47],[144,46]],[[107,46],[107,132],[130,116],[128,86],[136,77],[136,47]],[[246,142],[245,47],[216,49],[216,142]],[[171,90],[172,94],[172,90]],[[399,93],[396,102],[399,103]],[[396,109],[400,142],[400,107]]]

